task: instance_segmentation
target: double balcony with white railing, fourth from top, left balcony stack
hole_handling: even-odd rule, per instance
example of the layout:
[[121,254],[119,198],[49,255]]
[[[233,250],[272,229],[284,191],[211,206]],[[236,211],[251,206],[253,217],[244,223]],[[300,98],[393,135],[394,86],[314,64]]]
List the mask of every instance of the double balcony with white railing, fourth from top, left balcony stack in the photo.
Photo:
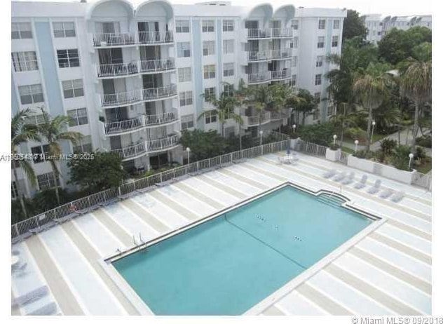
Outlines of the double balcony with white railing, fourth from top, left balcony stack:
[[177,109],[172,112],[157,115],[140,115],[133,119],[125,121],[115,121],[113,123],[104,123],[104,135],[118,135],[122,133],[130,133],[135,130],[150,128],[154,126],[162,126],[167,123],[178,121]]

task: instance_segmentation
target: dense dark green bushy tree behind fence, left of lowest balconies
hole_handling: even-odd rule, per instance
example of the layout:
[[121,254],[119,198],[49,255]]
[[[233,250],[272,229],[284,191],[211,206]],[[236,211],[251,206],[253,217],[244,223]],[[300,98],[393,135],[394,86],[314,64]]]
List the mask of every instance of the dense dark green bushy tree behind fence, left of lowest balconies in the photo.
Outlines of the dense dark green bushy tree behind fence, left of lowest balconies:
[[68,162],[71,180],[89,193],[118,187],[127,173],[121,166],[121,157],[113,152],[96,151],[89,160],[71,160]]

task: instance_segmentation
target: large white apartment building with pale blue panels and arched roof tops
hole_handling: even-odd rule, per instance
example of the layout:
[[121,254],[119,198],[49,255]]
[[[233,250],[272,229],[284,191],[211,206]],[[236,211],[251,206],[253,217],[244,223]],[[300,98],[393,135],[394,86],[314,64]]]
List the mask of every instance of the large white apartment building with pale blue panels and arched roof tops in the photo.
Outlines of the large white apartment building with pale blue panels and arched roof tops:
[[[68,115],[69,130],[84,135],[64,153],[115,151],[128,170],[149,170],[182,162],[184,129],[220,130],[203,94],[219,95],[238,86],[292,83],[319,102],[308,122],[334,114],[327,100],[331,69],[326,56],[340,53],[346,10],[252,8],[227,1],[173,5],[165,0],[82,0],[12,2],[12,114],[29,108],[39,123],[40,107],[51,116]],[[240,128],[225,135],[257,135],[259,116],[243,107]],[[287,113],[264,112],[261,128],[287,123]],[[42,153],[45,143],[29,142],[23,153]],[[31,196],[55,186],[48,161],[32,162],[37,186],[18,170],[19,186]],[[67,187],[69,170],[60,162]],[[17,184],[12,193],[16,196]]]

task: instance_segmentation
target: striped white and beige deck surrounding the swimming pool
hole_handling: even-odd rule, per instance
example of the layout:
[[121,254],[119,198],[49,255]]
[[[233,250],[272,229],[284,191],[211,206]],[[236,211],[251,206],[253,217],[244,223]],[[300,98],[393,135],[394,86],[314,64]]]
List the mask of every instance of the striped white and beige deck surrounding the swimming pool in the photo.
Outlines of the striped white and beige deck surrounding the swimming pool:
[[[138,315],[135,306],[103,269],[102,260],[200,218],[256,196],[284,182],[306,189],[336,191],[350,205],[384,221],[374,231],[270,306],[248,313],[261,315],[409,315],[431,313],[431,193],[368,174],[367,187],[354,189],[322,177],[326,170],[362,171],[299,154],[292,165],[278,163],[284,152],[243,163],[139,194],[52,227],[13,245],[24,271],[13,273],[12,296],[42,285],[50,292],[36,302],[12,307],[25,315],[55,303],[54,314]],[[367,193],[381,180],[386,188],[404,191],[400,203]]]

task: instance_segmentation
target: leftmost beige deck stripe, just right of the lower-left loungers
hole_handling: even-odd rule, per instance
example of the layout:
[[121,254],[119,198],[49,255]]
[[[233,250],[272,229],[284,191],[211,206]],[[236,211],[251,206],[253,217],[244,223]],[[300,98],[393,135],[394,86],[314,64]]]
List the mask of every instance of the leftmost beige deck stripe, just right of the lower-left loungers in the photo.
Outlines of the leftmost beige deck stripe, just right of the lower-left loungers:
[[28,238],[26,245],[64,315],[85,315],[85,311],[64,281],[62,273],[54,264],[39,235]]

